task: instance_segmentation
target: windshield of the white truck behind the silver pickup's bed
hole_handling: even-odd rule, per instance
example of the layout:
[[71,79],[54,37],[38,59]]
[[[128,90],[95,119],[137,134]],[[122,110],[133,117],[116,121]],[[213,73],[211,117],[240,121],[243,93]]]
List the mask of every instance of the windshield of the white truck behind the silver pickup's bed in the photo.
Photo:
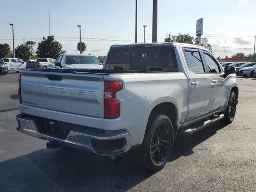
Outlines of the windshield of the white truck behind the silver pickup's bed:
[[90,55],[78,55],[78,56],[72,56],[68,55],[66,56],[66,64],[72,65],[72,64],[96,64],[100,65],[100,62],[95,56]]

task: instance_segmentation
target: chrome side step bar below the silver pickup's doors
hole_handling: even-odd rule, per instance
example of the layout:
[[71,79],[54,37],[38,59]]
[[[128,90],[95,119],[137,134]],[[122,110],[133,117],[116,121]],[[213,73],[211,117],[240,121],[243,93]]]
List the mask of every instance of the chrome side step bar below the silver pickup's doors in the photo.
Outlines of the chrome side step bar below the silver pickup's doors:
[[220,114],[218,116],[214,116],[214,118],[206,121],[200,121],[196,124],[192,124],[190,126],[185,127],[183,130],[180,131],[180,134],[182,135],[190,135],[195,132],[198,132],[199,130],[202,130],[203,128],[206,128],[207,126],[210,126],[214,124],[215,122],[218,122],[224,118],[224,114]]

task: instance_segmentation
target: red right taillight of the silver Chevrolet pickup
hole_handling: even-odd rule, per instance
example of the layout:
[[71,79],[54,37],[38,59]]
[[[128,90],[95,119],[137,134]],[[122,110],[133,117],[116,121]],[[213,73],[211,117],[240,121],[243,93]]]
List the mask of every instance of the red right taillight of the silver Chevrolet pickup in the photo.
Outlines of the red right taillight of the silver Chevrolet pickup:
[[116,119],[120,116],[120,102],[116,99],[116,92],[122,90],[121,81],[105,81],[104,85],[104,118]]

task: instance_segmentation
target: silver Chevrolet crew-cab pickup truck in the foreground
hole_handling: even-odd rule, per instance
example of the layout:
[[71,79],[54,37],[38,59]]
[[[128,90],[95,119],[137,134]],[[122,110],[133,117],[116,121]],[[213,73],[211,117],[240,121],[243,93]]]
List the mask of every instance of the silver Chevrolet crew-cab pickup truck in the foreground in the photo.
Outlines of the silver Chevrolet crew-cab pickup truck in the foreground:
[[149,170],[166,164],[178,133],[231,123],[238,102],[235,67],[180,43],[113,45],[103,70],[20,70],[18,93],[19,132],[114,162],[133,150]]

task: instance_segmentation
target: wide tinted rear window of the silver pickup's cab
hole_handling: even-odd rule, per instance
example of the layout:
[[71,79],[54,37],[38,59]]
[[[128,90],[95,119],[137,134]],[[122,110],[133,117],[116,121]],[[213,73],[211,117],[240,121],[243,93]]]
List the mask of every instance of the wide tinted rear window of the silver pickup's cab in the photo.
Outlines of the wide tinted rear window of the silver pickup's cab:
[[172,46],[149,48],[111,48],[105,69],[178,72]]

